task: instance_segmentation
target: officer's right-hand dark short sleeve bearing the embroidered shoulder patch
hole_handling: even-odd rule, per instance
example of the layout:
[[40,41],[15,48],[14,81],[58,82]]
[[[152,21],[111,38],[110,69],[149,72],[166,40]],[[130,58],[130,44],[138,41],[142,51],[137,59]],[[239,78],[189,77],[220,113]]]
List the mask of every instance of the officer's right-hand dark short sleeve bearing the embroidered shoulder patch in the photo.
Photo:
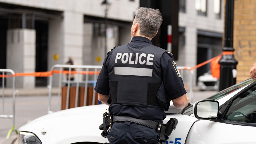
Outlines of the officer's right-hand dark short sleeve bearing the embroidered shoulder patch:
[[160,64],[163,70],[165,93],[170,99],[176,99],[186,94],[187,92],[173,56],[170,56],[167,52],[163,53]]

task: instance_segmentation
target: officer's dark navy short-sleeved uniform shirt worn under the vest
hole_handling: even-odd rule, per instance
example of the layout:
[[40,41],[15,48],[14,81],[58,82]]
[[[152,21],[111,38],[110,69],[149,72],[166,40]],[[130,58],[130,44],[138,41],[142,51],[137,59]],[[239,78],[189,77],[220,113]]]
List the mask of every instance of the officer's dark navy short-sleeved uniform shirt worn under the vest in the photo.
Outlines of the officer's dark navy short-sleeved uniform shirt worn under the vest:
[[[133,37],[132,41],[128,44],[132,48],[143,48],[152,45],[152,42],[145,37]],[[102,65],[96,86],[94,90],[97,93],[103,95],[109,95],[109,78],[108,78],[108,65],[112,52],[110,52]],[[176,69],[173,66],[173,57],[165,52],[163,53],[160,65],[163,71],[163,83],[165,87],[165,93],[170,99],[178,98],[186,94],[182,78],[178,76]],[[109,106],[109,112],[111,115],[129,115],[138,119],[154,120],[161,122],[165,119],[166,114],[164,110],[157,108],[145,108],[145,107],[133,107],[121,104],[111,104]]]

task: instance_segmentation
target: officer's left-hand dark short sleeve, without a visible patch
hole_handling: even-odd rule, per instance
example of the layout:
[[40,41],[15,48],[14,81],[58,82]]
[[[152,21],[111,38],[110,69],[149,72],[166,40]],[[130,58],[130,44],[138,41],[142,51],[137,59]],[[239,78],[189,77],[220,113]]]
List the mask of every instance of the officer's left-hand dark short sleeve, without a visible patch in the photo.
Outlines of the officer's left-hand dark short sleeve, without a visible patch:
[[109,74],[108,74],[108,63],[109,63],[109,59],[111,57],[111,53],[109,53],[106,58],[104,59],[102,68],[100,70],[100,74],[98,76],[98,80],[96,83],[96,86],[94,88],[94,90],[99,93],[99,94],[103,94],[103,95],[109,95]]

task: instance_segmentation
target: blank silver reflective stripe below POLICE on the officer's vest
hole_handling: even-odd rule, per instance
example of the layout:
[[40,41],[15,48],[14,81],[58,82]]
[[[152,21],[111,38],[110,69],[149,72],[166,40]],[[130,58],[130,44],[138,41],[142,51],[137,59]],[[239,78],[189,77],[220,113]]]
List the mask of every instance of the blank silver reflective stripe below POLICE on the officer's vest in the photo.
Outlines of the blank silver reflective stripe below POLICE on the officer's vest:
[[152,76],[153,69],[115,67],[115,74],[117,74],[117,75]]

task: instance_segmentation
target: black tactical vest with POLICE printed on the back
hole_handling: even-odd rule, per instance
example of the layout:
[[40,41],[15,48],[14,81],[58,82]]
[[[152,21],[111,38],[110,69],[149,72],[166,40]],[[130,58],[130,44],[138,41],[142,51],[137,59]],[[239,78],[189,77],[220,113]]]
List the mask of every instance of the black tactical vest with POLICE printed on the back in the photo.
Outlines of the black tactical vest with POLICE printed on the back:
[[168,110],[160,59],[166,50],[150,45],[131,48],[128,44],[112,51],[108,72],[108,103]]

